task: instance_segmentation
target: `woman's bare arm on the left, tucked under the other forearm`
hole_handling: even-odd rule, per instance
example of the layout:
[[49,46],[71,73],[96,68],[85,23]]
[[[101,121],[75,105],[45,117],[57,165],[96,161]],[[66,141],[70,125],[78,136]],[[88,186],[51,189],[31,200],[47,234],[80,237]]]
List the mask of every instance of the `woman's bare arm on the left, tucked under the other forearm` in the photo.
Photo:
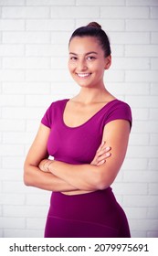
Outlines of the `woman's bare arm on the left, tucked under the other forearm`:
[[47,139],[50,129],[41,124],[35,141],[26,155],[24,164],[24,182],[26,186],[38,187],[50,191],[71,191],[76,187],[68,184],[58,176],[41,172],[38,165],[42,159],[47,158]]

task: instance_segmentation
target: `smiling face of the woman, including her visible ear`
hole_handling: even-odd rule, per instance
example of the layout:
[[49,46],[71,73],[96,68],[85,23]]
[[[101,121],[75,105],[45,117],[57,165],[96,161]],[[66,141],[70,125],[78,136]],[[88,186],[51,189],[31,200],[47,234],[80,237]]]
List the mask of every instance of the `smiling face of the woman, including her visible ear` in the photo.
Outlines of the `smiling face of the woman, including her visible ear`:
[[69,44],[68,69],[81,87],[102,87],[104,70],[111,66],[111,56],[104,51],[95,37],[74,37]]

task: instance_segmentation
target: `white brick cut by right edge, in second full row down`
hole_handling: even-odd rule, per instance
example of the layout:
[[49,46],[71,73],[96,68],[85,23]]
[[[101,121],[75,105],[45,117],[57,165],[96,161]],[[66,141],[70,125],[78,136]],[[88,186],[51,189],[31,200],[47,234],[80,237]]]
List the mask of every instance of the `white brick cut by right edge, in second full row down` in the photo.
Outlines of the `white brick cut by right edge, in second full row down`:
[[126,20],[127,31],[158,31],[157,19],[129,19]]

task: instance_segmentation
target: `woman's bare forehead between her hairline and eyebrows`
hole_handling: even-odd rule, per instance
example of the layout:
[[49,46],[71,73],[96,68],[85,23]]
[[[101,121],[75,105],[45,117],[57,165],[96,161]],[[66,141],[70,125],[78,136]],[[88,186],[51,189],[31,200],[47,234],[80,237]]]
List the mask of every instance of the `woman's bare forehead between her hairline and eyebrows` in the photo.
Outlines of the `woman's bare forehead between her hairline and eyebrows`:
[[73,37],[69,43],[69,51],[77,54],[100,50],[102,51],[96,37]]

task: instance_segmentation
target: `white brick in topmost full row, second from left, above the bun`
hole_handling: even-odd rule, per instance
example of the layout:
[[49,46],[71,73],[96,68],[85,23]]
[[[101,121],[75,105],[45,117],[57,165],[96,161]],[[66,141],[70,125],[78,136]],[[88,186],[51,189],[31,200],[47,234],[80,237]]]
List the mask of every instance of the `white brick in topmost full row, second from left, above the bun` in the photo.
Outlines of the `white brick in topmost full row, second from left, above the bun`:
[[64,6],[51,7],[51,18],[97,18],[100,16],[100,8],[97,6]]

